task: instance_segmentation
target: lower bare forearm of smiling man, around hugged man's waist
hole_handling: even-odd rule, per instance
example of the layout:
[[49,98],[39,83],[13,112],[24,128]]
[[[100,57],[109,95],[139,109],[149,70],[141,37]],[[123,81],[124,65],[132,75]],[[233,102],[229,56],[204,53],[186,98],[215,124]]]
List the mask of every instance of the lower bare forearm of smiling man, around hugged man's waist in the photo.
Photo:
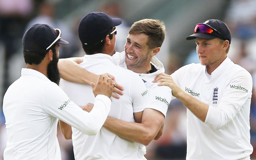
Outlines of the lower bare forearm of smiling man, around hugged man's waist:
[[148,145],[158,132],[145,123],[125,122],[112,117],[107,117],[103,126],[122,138],[144,145]]

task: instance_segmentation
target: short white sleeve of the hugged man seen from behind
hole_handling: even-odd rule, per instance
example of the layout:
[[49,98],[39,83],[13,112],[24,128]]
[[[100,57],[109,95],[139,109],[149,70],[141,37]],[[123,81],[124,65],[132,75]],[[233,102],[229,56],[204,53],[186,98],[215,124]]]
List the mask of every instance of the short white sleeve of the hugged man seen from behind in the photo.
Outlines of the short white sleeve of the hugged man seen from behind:
[[149,94],[143,80],[137,74],[131,77],[130,91],[133,99],[133,112],[143,111],[149,100]]

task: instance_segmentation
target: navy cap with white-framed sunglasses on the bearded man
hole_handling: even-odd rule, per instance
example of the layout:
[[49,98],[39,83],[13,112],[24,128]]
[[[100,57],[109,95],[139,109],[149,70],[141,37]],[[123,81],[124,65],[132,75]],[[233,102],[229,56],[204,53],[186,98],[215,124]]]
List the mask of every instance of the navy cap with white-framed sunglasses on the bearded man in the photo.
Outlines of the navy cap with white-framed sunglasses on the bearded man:
[[68,44],[61,39],[60,29],[54,29],[47,24],[34,24],[30,26],[22,40],[23,51],[46,51],[54,43]]

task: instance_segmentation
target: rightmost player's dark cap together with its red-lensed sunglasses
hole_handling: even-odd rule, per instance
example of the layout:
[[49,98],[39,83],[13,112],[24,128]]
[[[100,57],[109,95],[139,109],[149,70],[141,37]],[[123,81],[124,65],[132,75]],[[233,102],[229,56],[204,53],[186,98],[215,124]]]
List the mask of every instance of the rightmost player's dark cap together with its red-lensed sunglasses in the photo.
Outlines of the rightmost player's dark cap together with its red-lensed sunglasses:
[[203,23],[196,24],[194,34],[186,37],[186,40],[193,40],[196,37],[204,39],[220,38],[231,43],[230,30],[224,22],[218,19],[210,19]]

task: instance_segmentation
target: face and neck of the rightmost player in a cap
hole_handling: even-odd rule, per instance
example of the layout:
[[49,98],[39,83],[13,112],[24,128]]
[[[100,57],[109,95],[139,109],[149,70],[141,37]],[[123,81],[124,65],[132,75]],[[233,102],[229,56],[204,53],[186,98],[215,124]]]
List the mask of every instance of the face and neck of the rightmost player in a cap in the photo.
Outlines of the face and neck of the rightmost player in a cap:
[[[196,53],[202,65],[206,66],[207,72],[215,70],[227,57],[224,44],[217,38],[196,38]],[[209,73],[209,74],[210,74]]]

